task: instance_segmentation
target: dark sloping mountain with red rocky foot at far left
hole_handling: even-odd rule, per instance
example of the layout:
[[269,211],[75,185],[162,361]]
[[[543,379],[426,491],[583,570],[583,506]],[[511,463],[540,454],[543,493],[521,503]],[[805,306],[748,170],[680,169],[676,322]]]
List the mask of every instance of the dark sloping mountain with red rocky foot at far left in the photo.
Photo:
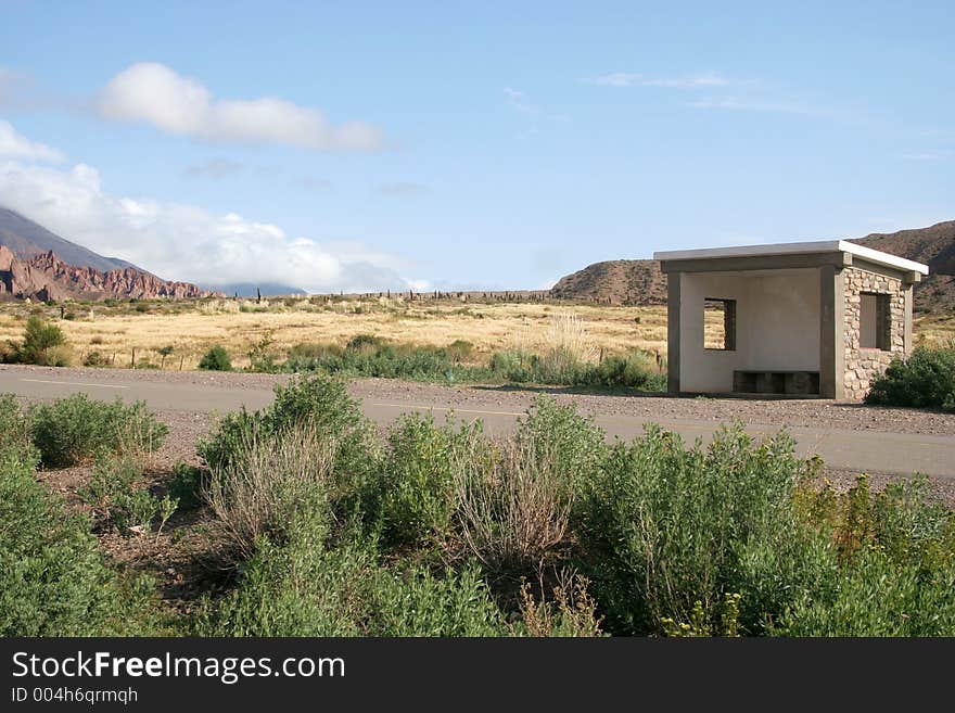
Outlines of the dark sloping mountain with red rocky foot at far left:
[[103,257],[0,207],[0,300],[201,297],[190,284]]

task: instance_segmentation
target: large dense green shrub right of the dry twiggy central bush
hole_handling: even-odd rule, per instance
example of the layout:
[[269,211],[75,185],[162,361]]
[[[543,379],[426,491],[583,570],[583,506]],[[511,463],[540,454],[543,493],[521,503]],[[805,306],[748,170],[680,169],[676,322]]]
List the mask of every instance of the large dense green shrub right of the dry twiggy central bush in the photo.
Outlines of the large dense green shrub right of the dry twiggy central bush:
[[764,629],[830,561],[798,521],[792,493],[813,474],[785,434],[754,446],[741,425],[706,450],[649,428],[616,445],[578,509],[581,566],[619,634],[665,633],[697,601],[714,616],[740,594],[743,632]]

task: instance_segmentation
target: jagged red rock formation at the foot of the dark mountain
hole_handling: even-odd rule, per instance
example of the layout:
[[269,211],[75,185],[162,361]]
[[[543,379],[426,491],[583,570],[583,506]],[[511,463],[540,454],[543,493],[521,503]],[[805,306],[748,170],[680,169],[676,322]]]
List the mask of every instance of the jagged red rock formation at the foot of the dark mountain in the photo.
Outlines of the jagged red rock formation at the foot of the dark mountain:
[[92,267],[68,265],[52,251],[18,258],[0,245],[0,300],[150,300],[213,294],[195,284],[162,280],[133,267],[104,272]]

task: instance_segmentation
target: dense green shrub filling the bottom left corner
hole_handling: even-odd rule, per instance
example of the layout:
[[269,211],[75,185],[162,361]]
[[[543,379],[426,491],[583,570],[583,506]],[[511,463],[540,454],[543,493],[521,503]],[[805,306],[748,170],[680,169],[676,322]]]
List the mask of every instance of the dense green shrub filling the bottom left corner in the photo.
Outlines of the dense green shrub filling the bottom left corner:
[[67,514],[0,449],[0,636],[118,636],[157,631],[152,583],[106,565],[85,518]]

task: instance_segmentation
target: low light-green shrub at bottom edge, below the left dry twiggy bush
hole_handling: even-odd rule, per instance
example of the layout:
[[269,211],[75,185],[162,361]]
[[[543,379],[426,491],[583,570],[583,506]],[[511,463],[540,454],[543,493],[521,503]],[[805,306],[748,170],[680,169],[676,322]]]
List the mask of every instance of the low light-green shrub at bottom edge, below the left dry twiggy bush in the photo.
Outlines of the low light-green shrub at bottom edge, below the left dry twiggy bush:
[[200,636],[500,636],[504,617],[480,570],[435,576],[384,568],[368,544],[322,546],[324,530],[300,522],[296,538],[263,538],[238,587],[207,601]]

